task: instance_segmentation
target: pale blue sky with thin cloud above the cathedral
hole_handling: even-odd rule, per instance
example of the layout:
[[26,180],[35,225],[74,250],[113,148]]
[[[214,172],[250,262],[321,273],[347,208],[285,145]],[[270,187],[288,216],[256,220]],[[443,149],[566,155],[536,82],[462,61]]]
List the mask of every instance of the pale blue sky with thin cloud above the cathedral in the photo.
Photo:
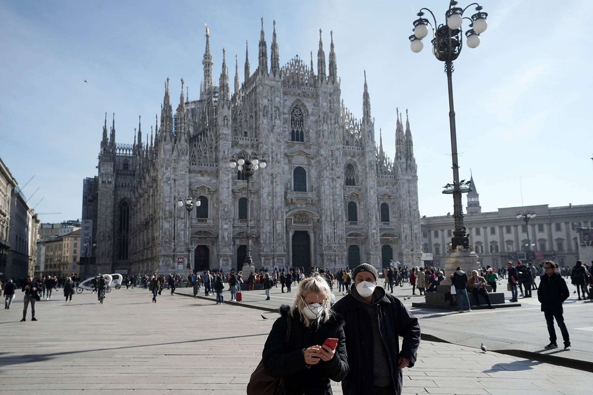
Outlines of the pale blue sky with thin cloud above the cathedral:
[[[460,2],[467,5],[470,2]],[[480,192],[483,211],[521,205],[590,204],[593,196],[593,56],[586,31],[593,2],[485,0],[488,30],[465,47],[453,75],[461,178]],[[297,6],[298,5],[298,6]],[[317,54],[319,28],[329,55],[334,33],[342,97],[362,113],[366,69],[378,141],[395,153],[396,107],[410,113],[418,164],[420,213],[452,210],[441,187],[452,181],[447,78],[425,39],[415,54],[407,37],[421,7],[438,14],[448,1],[3,1],[0,2],[0,157],[43,221],[81,217],[82,179],[97,174],[104,113],[116,113],[116,139],[132,143],[160,110],[171,78],[197,98],[204,24],[211,30],[214,78],[222,48],[234,77],[243,75],[245,40],[257,66],[260,17],[272,20],[280,63]],[[315,60],[315,65],[317,61]],[[83,81],[87,79],[88,83]],[[241,77],[241,81],[243,78]],[[464,206],[466,200],[464,198]]]

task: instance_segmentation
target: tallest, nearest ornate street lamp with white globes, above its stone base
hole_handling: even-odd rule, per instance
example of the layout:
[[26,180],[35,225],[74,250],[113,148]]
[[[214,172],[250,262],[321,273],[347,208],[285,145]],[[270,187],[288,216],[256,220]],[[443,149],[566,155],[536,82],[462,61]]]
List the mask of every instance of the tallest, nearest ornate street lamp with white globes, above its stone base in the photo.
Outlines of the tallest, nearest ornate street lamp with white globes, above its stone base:
[[[471,18],[464,17],[463,14],[472,5],[476,5],[476,13],[471,15]],[[461,25],[463,20],[470,21],[470,30],[466,31],[466,43],[470,48],[476,48],[480,44],[480,33],[486,31],[488,23],[486,18],[488,14],[482,12],[482,6],[477,3],[472,3],[466,8],[456,7],[457,1],[451,0],[449,9],[445,12],[446,24],[436,24],[435,14],[428,8],[421,8],[418,19],[413,22],[414,29],[410,39],[410,47],[412,52],[420,52],[424,46],[422,38],[428,35],[428,25],[432,28],[432,54],[436,59],[445,62],[445,72],[447,73],[447,83],[449,89],[449,129],[451,131],[451,160],[453,164],[453,184],[447,184],[444,194],[453,195],[453,218],[455,219],[455,230],[451,239],[451,249],[457,246],[469,248],[468,237],[466,236],[466,228],[463,226],[463,207],[461,205],[461,194],[470,192],[469,183],[465,180],[459,181],[459,165],[457,159],[457,136],[455,134],[455,110],[453,108],[453,86],[451,82],[451,74],[453,72],[453,60],[457,59],[463,47],[463,30]],[[429,21],[423,18],[426,10],[431,13],[432,20]]]

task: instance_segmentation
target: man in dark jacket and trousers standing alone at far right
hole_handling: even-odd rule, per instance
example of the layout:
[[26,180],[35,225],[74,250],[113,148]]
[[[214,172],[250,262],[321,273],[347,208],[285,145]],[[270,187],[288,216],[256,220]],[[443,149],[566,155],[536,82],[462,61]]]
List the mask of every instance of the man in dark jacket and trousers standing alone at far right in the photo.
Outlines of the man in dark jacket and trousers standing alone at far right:
[[564,323],[564,309],[562,303],[569,297],[570,293],[566,286],[566,281],[558,273],[554,272],[554,264],[551,261],[544,263],[544,274],[541,277],[540,287],[537,290],[537,298],[541,303],[541,311],[546,316],[546,323],[548,325],[548,333],[550,333],[550,344],[545,348],[557,348],[556,330],[554,330],[554,319],[560,332],[562,332],[562,339],[564,341],[565,351],[570,350],[570,338],[568,336],[568,329]]

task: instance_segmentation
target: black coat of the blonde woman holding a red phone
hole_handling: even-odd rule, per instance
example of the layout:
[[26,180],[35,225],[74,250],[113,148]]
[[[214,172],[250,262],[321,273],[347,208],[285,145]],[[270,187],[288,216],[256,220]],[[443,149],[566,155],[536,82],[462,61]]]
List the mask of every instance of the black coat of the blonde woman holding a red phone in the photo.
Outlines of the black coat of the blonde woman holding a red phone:
[[[333,313],[327,322],[316,325],[312,322],[306,327],[297,311],[294,317],[289,314],[291,308],[286,304],[280,307],[280,318],[272,326],[262,353],[266,372],[274,377],[282,376],[286,395],[331,394],[330,379],[342,381],[349,371],[346,355],[343,320]],[[291,322],[288,345],[286,330]],[[310,346],[323,345],[328,338],[338,339],[336,354],[331,361],[319,361],[314,365],[305,364],[303,351]]]

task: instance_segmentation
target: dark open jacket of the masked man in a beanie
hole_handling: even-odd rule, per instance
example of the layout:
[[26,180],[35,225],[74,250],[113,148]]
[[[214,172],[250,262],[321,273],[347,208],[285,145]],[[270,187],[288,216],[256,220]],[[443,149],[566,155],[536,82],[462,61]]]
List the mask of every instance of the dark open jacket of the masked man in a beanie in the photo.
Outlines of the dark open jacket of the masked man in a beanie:
[[[331,307],[344,317],[346,325],[346,351],[350,373],[342,382],[345,395],[373,394],[373,333],[371,320],[365,306],[348,294]],[[397,369],[399,357],[410,359],[409,367],[416,362],[416,351],[420,345],[418,319],[404,307],[398,298],[385,294],[377,304],[379,330],[385,352],[391,362],[391,380],[397,395],[401,394],[402,374]],[[399,336],[403,342],[399,344]]]

